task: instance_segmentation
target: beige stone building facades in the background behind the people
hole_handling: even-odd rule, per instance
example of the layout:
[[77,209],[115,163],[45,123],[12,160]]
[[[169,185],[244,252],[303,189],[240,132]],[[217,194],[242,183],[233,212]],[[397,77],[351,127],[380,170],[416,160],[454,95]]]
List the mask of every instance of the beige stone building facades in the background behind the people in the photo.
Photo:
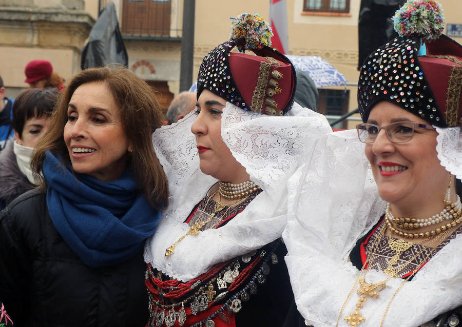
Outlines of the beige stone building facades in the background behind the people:
[[[129,68],[159,93],[168,107],[179,93],[183,2],[114,0]],[[0,75],[9,96],[27,87],[24,67],[48,59],[69,78],[80,70],[81,49],[108,0],[0,0]],[[448,24],[459,24],[460,0],[439,0]],[[346,86],[323,88],[318,109],[336,117],[357,108],[358,17],[360,0],[286,0],[289,54],[316,55],[347,77]],[[325,9],[328,4],[328,9]],[[329,7],[330,6],[330,7]],[[332,9],[332,8],[334,9]],[[230,33],[230,17],[256,12],[268,19],[268,0],[196,0],[194,71],[205,54]],[[462,37],[455,37],[461,43]],[[191,84],[193,80],[191,80]],[[358,115],[339,128],[353,128]]]

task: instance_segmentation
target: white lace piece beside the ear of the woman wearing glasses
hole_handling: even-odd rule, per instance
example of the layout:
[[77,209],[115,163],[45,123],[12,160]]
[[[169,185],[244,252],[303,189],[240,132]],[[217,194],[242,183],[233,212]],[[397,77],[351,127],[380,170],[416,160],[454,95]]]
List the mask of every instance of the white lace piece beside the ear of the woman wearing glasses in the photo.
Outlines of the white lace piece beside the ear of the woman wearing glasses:
[[441,166],[455,175],[457,179],[462,179],[462,128],[436,127],[436,131],[438,132],[436,151]]

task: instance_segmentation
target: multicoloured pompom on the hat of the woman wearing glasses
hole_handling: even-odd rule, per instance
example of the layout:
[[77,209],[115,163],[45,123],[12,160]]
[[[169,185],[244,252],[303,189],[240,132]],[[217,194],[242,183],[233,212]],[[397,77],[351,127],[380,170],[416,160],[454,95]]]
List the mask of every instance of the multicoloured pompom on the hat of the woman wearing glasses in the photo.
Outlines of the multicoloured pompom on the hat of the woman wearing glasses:
[[393,16],[395,31],[399,36],[420,36],[434,40],[445,29],[441,6],[434,0],[408,0]]

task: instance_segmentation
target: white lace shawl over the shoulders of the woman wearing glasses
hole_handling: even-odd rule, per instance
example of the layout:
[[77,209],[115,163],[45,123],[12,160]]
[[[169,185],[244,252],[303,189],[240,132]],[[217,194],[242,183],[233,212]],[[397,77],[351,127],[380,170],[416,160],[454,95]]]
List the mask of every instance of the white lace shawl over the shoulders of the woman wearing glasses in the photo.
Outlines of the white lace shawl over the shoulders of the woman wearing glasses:
[[[347,258],[356,241],[370,230],[384,211],[355,131],[318,139],[312,155],[289,179],[285,257],[297,308],[309,324],[333,326],[359,271]],[[303,199],[309,199],[303,200]],[[393,300],[384,326],[415,327],[462,303],[462,236],[440,250]],[[305,269],[300,269],[304,267]],[[386,279],[370,271],[368,282]],[[368,299],[361,326],[378,326],[402,279],[391,279],[378,299]],[[358,296],[353,293],[343,310],[351,314]]]

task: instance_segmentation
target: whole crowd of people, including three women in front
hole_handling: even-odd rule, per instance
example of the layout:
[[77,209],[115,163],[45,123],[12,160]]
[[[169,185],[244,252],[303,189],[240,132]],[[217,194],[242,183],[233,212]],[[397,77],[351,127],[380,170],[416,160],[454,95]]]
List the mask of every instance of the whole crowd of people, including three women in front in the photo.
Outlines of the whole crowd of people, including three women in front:
[[257,14],[166,116],[119,65],[0,79],[0,325],[459,325],[462,46],[433,0],[394,19],[353,130]]

